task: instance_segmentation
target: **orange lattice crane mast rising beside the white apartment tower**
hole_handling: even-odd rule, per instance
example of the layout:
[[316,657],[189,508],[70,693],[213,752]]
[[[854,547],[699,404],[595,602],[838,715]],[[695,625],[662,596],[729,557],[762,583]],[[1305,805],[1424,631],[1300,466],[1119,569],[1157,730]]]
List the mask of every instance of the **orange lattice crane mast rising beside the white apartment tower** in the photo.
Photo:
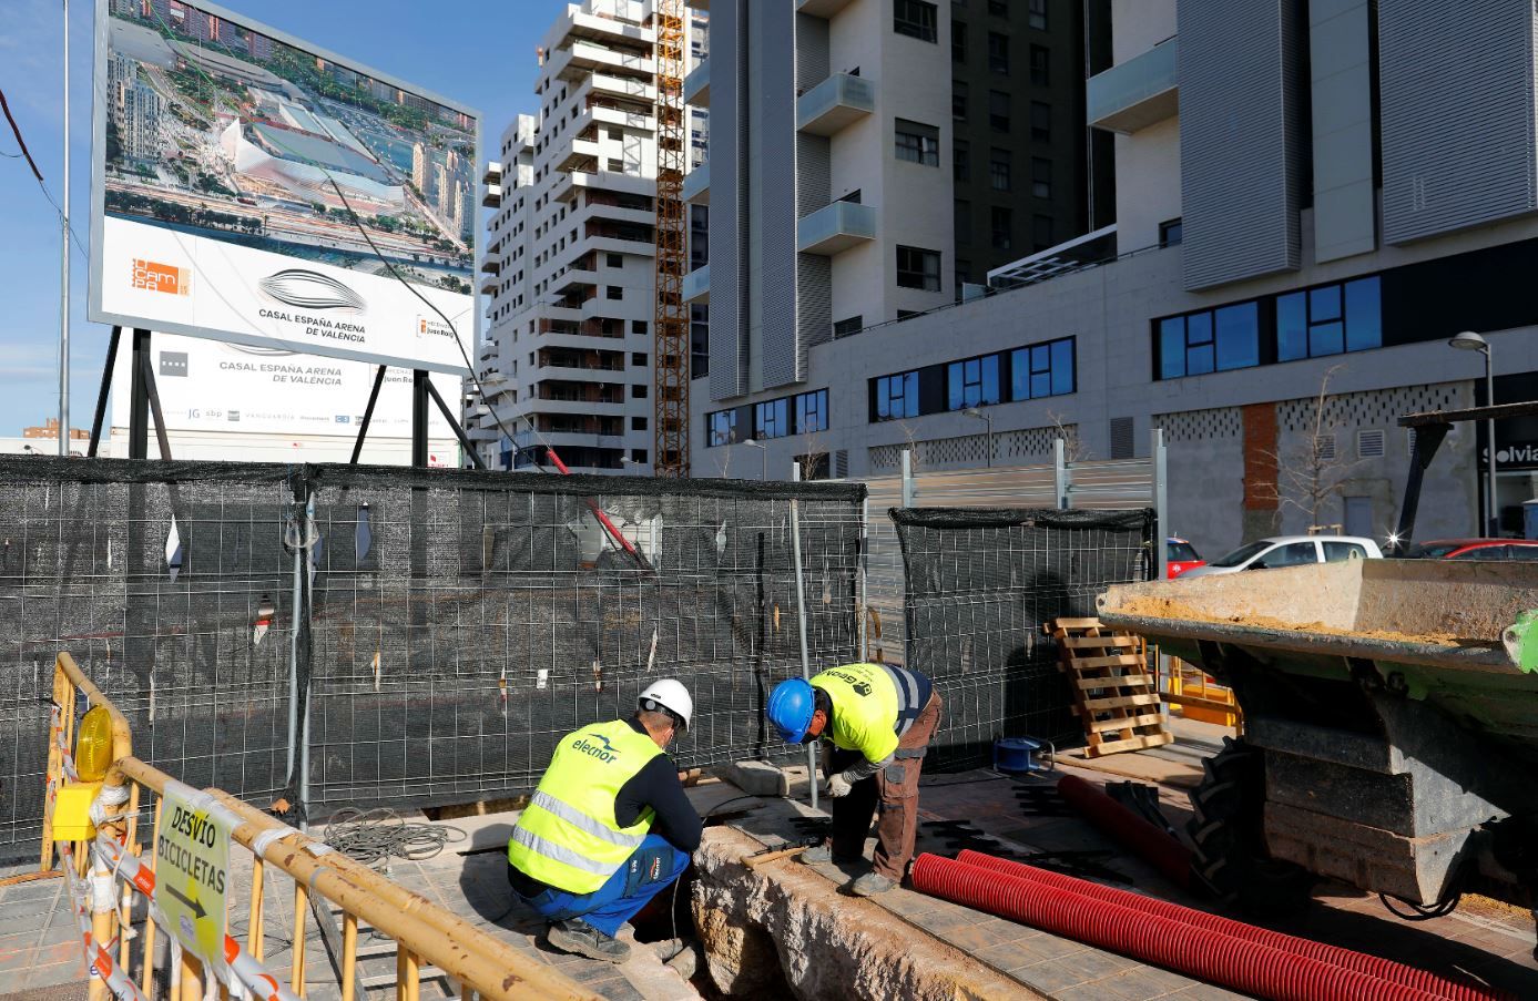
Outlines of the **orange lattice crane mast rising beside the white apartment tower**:
[[652,469],[689,475],[689,308],[683,277],[689,266],[683,174],[687,125],[683,106],[684,0],[657,0],[657,314],[652,323]]

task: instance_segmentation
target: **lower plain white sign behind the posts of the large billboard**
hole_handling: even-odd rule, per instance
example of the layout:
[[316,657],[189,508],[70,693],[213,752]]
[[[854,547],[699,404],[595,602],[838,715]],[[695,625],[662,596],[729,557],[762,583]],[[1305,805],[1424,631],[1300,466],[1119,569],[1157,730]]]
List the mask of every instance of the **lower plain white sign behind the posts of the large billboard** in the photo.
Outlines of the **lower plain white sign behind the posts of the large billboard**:
[[[131,338],[118,344],[112,366],[112,426],[128,427]],[[249,432],[265,435],[355,437],[374,387],[366,361],[252,348],[175,334],[151,340],[151,369],[160,392],[166,431]],[[458,378],[432,375],[449,406],[460,397]],[[411,372],[389,369],[380,387],[369,440],[411,438]],[[429,404],[428,437],[452,441],[454,431]]]

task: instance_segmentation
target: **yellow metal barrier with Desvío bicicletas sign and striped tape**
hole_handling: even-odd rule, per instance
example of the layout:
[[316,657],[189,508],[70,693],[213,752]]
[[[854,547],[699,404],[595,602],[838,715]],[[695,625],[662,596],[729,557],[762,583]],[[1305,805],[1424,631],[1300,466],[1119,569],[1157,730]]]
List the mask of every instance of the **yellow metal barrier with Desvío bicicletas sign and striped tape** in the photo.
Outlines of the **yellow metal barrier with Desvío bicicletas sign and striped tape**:
[[[58,653],[54,666],[54,720],[48,749],[48,815],[43,821],[43,872],[54,861],[54,807],[60,787],[77,778],[75,738],[78,695],[92,707],[102,706],[111,718],[111,764],[92,806],[95,838],[60,843],[60,869],[69,881],[71,898],[80,921],[86,964],[91,969],[91,1001],[103,1001],[109,993],[131,1001],[152,995],[157,924],[166,924],[154,898],[154,852],[141,858],[138,844],[138,796],[148,789],[155,796],[155,835],[160,832],[160,807],[165,793],[197,795],[165,772],[134,757],[128,720],[86,678],[69,653]],[[424,966],[435,966],[455,984],[461,998],[572,998],[597,999],[600,995],[581,987],[555,969],[532,959],[511,944],[492,938],[468,921],[400,887],[368,866],[363,866],[314,838],[288,827],[229,793],[209,789],[206,796],[234,818],[231,843],[252,853],[252,887],[249,896],[249,933],[245,946],[225,936],[223,966],[208,972],[218,984],[220,998],[231,993],[271,1001],[298,1001],[306,992],[305,932],[309,895],[317,893],[341,909],[341,976],[343,1001],[366,1001],[355,995],[358,923],[366,921],[378,935],[395,943],[397,1001],[418,1001]],[[125,809],[126,807],[126,809]],[[74,832],[71,832],[74,833]],[[263,887],[272,867],[294,884],[294,927],[288,983],[283,987],[263,966]],[[122,881],[122,886],[118,886]],[[132,913],[132,895],[149,898],[143,933],[120,933],[122,913]],[[168,929],[169,932],[169,929]],[[129,978],[132,941],[141,941],[141,981]],[[115,946],[115,955],[114,955]],[[200,1001],[205,995],[203,963],[177,947],[172,935],[171,969],[163,981],[168,998]]]

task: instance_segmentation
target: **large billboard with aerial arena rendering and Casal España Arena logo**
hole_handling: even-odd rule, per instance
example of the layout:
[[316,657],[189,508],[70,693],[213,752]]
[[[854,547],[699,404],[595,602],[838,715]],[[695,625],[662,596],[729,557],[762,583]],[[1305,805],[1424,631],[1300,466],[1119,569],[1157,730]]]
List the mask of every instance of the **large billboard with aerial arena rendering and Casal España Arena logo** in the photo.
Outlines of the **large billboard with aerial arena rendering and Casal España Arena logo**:
[[474,111],[211,3],[103,0],[95,55],[92,320],[468,371]]

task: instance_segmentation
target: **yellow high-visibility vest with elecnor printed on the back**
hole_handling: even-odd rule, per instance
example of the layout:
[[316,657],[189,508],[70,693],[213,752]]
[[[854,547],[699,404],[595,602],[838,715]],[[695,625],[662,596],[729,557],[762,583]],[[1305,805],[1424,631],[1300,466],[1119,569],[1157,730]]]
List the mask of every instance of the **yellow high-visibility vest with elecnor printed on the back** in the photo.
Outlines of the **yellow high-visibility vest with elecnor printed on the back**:
[[594,723],[555,746],[508,841],[508,861],[568,893],[592,893],[640,847],[655,813],[629,827],[614,820],[614,800],[647,761],[663,753],[624,720]]

